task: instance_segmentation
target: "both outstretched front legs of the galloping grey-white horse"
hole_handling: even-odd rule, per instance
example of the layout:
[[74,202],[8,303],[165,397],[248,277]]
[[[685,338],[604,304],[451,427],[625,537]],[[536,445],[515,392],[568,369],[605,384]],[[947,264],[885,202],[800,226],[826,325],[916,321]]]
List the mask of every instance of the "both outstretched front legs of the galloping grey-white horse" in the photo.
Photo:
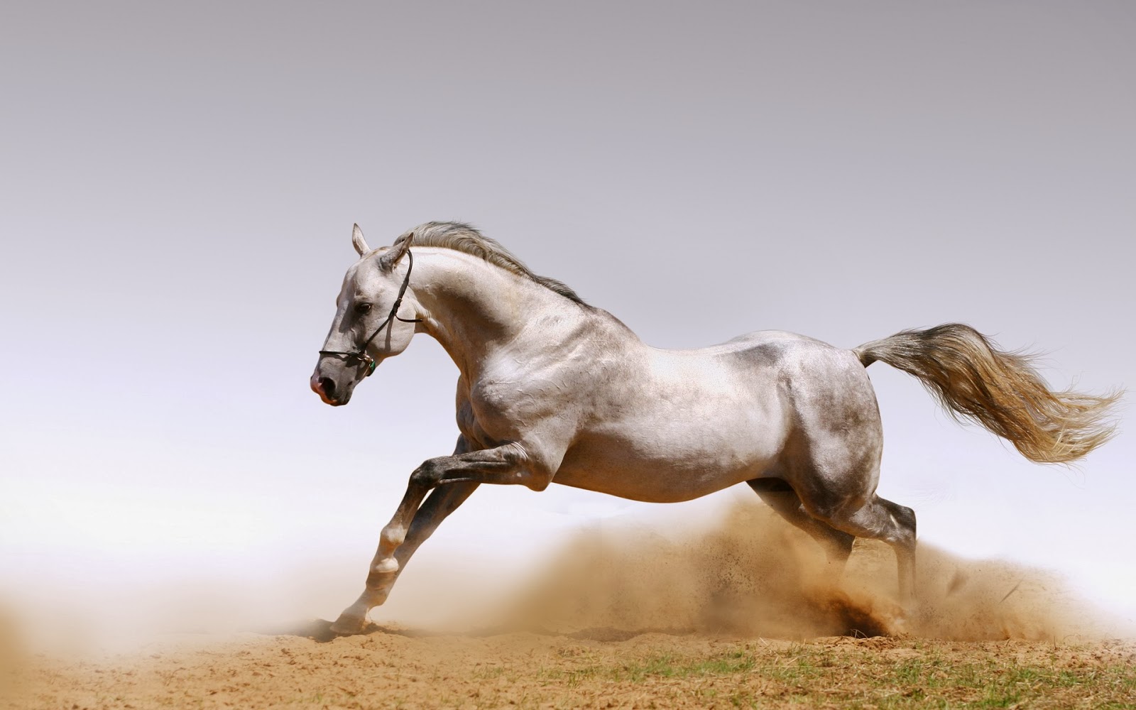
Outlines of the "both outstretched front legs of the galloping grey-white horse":
[[[531,473],[521,470],[525,456],[515,444],[483,451],[463,449],[465,441],[459,438],[458,450],[453,456],[429,459],[410,474],[407,493],[394,517],[379,535],[378,550],[367,575],[367,586],[356,603],[340,615],[339,620],[332,625],[332,630],[339,634],[359,633],[366,625],[367,612],[386,601],[402,566],[415,550],[478,484],[517,483],[540,488],[548,485],[546,481],[542,485]],[[438,488],[441,484],[445,485]],[[431,495],[423,503],[427,493]]]

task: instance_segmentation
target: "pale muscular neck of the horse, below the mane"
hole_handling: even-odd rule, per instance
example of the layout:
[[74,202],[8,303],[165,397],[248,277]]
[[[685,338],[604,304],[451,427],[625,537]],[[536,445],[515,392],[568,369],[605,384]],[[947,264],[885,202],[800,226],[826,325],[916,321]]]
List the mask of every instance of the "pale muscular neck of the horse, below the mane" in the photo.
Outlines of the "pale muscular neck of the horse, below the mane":
[[557,342],[586,317],[562,295],[476,257],[448,249],[421,252],[425,273],[415,296],[424,329],[467,379],[502,349],[526,339]]

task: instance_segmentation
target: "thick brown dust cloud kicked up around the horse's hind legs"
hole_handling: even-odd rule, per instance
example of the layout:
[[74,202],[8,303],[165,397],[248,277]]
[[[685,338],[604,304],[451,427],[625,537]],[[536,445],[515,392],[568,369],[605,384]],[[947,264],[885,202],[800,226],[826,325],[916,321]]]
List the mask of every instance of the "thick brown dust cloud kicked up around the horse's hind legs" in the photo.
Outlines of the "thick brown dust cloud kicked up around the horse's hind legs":
[[918,603],[896,603],[892,550],[858,540],[834,584],[820,548],[770,509],[735,503],[704,529],[579,534],[502,617],[504,626],[615,635],[658,630],[809,638],[904,634],[953,641],[1116,636],[1056,575],[920,544]]

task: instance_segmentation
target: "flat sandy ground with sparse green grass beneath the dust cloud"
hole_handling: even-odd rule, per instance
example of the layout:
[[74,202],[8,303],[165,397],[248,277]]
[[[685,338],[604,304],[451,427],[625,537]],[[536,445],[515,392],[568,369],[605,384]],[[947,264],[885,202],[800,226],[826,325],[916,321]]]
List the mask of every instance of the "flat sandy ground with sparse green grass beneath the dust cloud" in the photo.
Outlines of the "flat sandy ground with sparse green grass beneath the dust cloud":
[[[309,636],[250,634],[207,645],[166,642],[99,661],[35,659],[10,678],[16,683],[15,694],[0,707],[772,708],[985,702],[1093,708],[1136,703],[1136,643],[1131,642],[1054,645],[822,637],[800,643],[660,633],[624,638],[611,629],[577,635],[417,636],[392,628],[327,640],[320,636],[320,627],[326,625],[312,625]],[[1103,676],[1108,676],[1105,682],[1099,682]],[[997,702],[1003,698],[1020,704]]]

